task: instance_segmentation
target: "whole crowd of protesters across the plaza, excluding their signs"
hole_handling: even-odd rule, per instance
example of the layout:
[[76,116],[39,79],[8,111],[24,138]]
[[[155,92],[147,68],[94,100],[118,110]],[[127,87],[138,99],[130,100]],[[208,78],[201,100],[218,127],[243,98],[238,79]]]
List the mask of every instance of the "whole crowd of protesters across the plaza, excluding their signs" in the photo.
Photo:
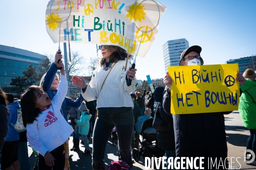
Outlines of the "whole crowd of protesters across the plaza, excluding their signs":
[[[59,51],[39,86],[30,86],[20,100],[0,89],[2,169],[30,170],[28,142],[37,156],[34,170],[70,170],[69,149],[80,150],[82,137],[81,142],[85,145],[82,155],[92,155],[93,170],[105,170],[106,145],[114,127],[118,135],[119,159],[132,168],[130,148],[140,149],[134,125],[142,115],[162,121],[161,128],[156,129],[156,138],[167,159],[211,157],[219,162],[227,158],[224,115],[231,111],[172,115],[173,81],[168,72],[164,78],[165,87],[153,86],[153,90],[148,86],[147,90],[138,92],[137,69],[131,69],[130,62],[133,56],[118,46],[100,45],[99,49],[103,58],[90,83],[86,84],[82,77],[72,77],[73,84],[81,88],[76,99],[65,96],[68,82]],[[185,49],[179,65],[189,66],[193,61],[203,65],[201,50],[200,46]],[[58,69],[60,78],[56,75]],[[127,86],[129,79],[132,84]],[[241,92],[239,112],[244,126],[250,130],[247,149],[256,153],[256,73],[247,69],[244,74],[238,73],[236,80]],[[26,130],[21,124],[17,127],[17,122],[22,122]],[[24,130],[17,131],[19,128]],[[92,142],[90,132],[93,132]],[[69,148],[71,134],[73,147]],[[199,166],[199,161],[196,164]],[[251,164],[256,165],[256,161]],[[208,168],[207,161],[203,167]],[[224,166],[223,169],[228,168]]]

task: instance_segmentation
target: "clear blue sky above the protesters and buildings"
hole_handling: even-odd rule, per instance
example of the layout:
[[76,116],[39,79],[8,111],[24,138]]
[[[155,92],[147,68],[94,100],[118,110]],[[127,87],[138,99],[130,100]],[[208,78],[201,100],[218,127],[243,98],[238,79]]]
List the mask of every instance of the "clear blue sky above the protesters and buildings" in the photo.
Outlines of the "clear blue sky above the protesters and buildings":
[[[138,79],[165,76],[162,45],[168,40],[185,38],[189,46],[201,46],[205,64],[224,64],[256,54],[256,0],[158,1],[167,10],[147,55],[137,58]],[[1,0],[0,44],[55,54],[58,44],[52,42],[45,29],[47,3],[48,0]],[[96,55],[96,45],[71,43],[71,50],[79,51],[87,61]]]

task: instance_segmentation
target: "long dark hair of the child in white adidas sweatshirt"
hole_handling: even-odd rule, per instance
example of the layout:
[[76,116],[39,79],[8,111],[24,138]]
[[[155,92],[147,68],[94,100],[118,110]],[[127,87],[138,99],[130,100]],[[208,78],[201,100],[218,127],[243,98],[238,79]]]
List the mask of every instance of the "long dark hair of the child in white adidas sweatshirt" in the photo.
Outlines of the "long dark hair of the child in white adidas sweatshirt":
[[36,108],[35,92],[39,91],[43,92],[43,89],[39,86],[30,86],[21,94],[21,110],[24,127],[26,127],[26,124],[32,124],[35,118],[41,113],[40,109]]

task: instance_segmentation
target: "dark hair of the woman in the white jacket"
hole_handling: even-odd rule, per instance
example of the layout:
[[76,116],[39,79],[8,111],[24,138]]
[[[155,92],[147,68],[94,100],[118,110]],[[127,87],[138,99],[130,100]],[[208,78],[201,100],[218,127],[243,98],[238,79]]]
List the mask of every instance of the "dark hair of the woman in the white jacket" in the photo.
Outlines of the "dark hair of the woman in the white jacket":
[[[119,46],[109,46],[109,45],[105,45],[107,46],[106,50],[111,50],[111,51],[115,51],[113,52],[113,54],[110,56],[110,59],[113,63],[118,62],[119,60],[126,60],[127,58],[127,51],[125,49],[122,49]],[[129,54],[129,60],[133,59],[133,55]],[[103,66],[105,63],[105,59],[102,58],[100,60],[100,66]]]

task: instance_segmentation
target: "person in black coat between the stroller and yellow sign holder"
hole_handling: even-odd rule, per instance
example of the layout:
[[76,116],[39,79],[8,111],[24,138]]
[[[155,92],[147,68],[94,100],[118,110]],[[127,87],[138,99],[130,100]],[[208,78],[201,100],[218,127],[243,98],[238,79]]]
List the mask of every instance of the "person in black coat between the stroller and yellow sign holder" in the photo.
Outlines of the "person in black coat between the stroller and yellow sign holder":
[[[166,167],[168,167],[168,158],[173,157],[173,160],[176,157],[175,153],[175,136],[174,136],[174,123],[171,115],[167,115],[163,109],[163,97],[165,87],[156,87],[154,92],[154,115],[157,117],[161,117],[165,124],[169,127],[167,131],[156,130],[156,138],[158,142],[158,147],[161,150],[165,150],[166,156]],[[156,118],[157,118],[156,117]]]

